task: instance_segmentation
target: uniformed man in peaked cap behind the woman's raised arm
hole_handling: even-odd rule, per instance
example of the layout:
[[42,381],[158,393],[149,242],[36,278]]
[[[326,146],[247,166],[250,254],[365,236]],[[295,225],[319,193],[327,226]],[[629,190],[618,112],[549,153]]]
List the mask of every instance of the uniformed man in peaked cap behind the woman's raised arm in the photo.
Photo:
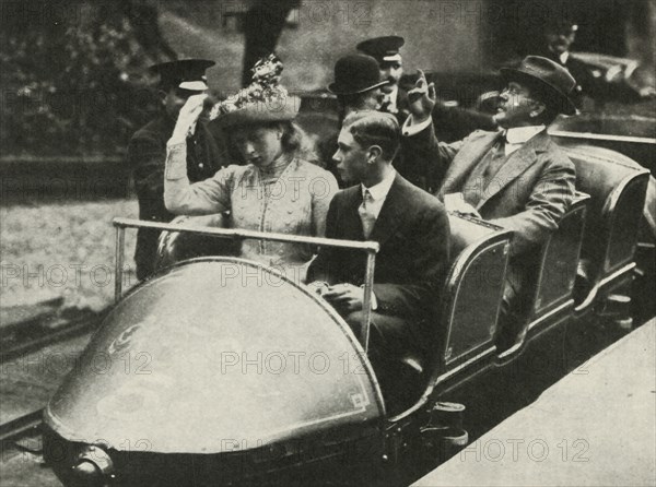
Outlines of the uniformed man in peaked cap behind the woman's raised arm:
[[[160,76],[157,92],[163,110],[154,120],[139,129],[128,146],[128,158],[134,175],[139,199],[139,218],[168,223],[174,215],[164,206],[164,168],[166,141],[171,138],[178,112],[191,95],[208,90],[206,70],[214,61],[185,59],[155,64],[149,69]],[[197,123],[188,135],[187,175],[192,182],[214,176],[226,165],[221,151],[203,122]],[[140,228],[137,234],[134,262],[137,277],[149,277],[154,268],[160,231]]]

